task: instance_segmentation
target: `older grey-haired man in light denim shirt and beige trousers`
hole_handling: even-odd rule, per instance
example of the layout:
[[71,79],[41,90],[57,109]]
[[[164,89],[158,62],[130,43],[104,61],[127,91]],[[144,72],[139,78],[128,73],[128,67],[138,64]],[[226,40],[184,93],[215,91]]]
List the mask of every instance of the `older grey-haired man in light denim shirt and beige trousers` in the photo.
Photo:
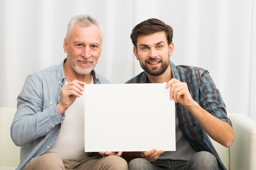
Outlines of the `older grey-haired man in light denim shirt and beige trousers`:
[[94,72],[101,45],[101,24],[75,16],[63,43],[67,58],[27,77],[11,125],[13,142],[21,146],[17,170],[128,169],[121,152],[84,152],[83,87],[110,83]]

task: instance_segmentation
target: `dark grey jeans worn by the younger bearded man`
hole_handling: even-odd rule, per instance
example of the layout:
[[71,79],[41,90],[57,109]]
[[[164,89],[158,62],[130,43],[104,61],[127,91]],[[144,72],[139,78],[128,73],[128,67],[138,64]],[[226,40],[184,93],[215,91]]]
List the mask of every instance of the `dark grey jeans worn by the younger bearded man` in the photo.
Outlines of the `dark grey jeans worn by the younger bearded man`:
[[149,162],[143,158],[132,159],[129,170],[218,170],[216,157],[209,152],[198,152],[189,161],[163,160]]

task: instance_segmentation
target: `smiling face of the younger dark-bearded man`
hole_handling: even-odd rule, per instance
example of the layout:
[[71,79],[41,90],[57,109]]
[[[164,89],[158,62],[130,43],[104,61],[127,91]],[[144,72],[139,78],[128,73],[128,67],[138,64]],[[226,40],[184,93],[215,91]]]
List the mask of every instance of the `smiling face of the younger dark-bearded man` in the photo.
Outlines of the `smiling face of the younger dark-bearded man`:
[[133,52],[141,68],[152,76],[162,75],[173,54],[173,43],[168,45],[164,31],[137,37],[137,48]]

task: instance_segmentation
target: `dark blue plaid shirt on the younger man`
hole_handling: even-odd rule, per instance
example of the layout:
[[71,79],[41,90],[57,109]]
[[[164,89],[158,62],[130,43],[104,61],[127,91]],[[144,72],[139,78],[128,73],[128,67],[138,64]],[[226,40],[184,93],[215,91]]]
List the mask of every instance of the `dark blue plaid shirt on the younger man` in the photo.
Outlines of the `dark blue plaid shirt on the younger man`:
[[[207,70],[186,65],[175,66],[171,61],[170,66],[172,78],[186,82],[192,98],[204,110],[232,126],[231,121],[227,117],[226,106],[220,95],[220,91],[216,88]],[[149,83],[149,81],[146,72],[141,72],[126,83]],[[180,128],[190,144],[197,151],[208,151],[215,155],[218,161],[218,169],[226,170],[207,133],[202,129],[194,116],[179,103],[175,104],[175,108],[180,122]]]

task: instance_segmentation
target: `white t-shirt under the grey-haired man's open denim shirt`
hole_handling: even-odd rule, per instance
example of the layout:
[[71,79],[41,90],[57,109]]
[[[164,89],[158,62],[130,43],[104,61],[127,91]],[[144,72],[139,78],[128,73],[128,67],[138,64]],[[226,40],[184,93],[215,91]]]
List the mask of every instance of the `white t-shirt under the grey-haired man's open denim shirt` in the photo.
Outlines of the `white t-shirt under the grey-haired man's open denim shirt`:
[[[93,79],[91,84],[93,84]],[[65,111],[65,120],[61,124],[59,135],[45,154],[54,153],[63,160],[75,161],[81,161],[87,157],[91,157],[91,153],[85,153],[84,151],[84,131],[83,94],[76,98],[74,103]]]

